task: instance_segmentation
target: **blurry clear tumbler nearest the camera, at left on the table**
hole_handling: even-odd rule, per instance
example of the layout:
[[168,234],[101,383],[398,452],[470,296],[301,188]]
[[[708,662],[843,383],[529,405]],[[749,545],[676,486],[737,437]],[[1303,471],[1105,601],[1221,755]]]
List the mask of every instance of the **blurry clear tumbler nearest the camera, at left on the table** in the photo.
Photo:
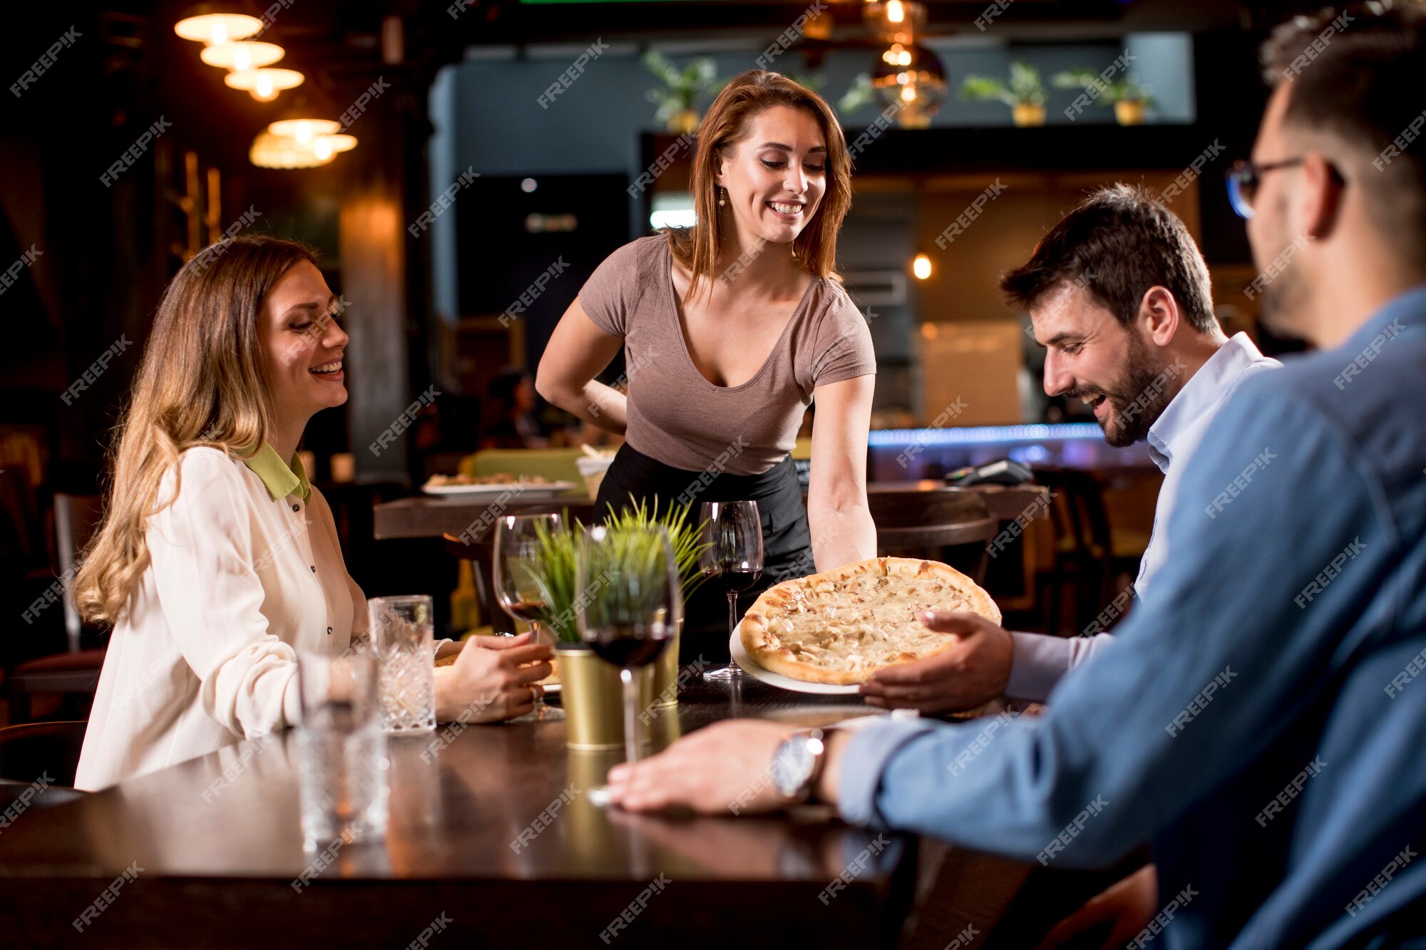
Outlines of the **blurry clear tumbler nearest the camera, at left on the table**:
[[307,847],[386,832],[386,735],[381,675],[369,652],[297,656],[298,796]]

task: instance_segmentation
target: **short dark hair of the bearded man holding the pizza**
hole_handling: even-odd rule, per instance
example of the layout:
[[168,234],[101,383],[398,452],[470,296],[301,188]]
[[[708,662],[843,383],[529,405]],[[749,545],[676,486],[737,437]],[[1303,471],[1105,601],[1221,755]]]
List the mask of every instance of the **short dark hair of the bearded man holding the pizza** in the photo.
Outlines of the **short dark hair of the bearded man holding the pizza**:
[[1204,255],[1178,215],[1147,188],[1099,188],[1050,228],[1028,262],[1000,278],[1010,305],[1021,311],[1064,284],[1082,285],[1125,325],[1151,287],[1166,287],[1195,330],[1218,330]]

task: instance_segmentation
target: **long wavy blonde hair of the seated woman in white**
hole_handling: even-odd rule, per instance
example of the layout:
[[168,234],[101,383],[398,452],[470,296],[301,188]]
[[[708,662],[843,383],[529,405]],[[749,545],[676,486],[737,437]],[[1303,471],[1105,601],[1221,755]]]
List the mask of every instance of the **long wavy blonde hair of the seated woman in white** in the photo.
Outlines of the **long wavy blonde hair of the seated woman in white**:
[[154,315],[133,394],[118,424],[104,521],[74,578],[74,602],[93,623],[118,622],[148,568],[144,533],[164,505],[158,489],[178,455],[211,445],[251,454],[267,439],[271,405],[258,339],[262,298],[311,250],[274,237],[221,241],[170,281]]

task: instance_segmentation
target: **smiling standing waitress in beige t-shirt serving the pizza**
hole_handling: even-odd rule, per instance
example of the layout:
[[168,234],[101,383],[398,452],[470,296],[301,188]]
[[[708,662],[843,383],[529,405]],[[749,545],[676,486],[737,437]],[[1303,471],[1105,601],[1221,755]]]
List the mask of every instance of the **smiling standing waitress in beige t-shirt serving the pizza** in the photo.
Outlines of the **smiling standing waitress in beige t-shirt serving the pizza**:
[[[579,291],[539,364],[546,399],[626,436],[596,511],[756,501],[763,576],[746,609],[787,578],[876,556],[866,456],[871,334],[843,290],[837,231],[851,160],[816,93],[761,70],[734,77],[703,118],[697,224],[626,244]],[[595,381],[625,348],[627,392]],[[807,506],[789,452],[817,401]],[[683,659],[727,658],[727,606],[686,605]]]

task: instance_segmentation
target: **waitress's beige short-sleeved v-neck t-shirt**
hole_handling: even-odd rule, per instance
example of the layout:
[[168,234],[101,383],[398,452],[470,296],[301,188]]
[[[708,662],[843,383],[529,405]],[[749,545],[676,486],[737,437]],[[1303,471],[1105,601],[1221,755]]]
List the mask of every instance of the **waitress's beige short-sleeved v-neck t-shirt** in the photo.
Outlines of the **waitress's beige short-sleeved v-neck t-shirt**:
[[871,331],[847,291],[813,278],[763,368],[740,387],[713,385],[689,355],[662,234],[610,254],[579,304],[596,327],[625,339],[629,445],[693,472],[720,456],[720,471],[766,472],[797,441],[813,389],[877,371]]

